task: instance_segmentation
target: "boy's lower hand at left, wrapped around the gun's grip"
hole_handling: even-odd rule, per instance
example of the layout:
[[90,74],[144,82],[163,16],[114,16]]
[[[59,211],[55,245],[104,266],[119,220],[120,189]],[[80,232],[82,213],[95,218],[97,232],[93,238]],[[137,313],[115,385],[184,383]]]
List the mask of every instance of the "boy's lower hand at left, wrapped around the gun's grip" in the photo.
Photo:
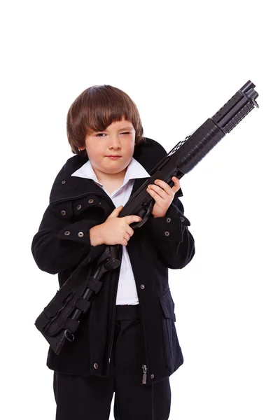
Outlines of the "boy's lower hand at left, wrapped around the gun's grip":
[[123,206],[117,207],[104,223],[90,229],[90,244],[93,246],[101,244],[127,246],[127,242],[134,234],[130,223],[140,222],[142,218],[136,215],[118,217],[122,209]]

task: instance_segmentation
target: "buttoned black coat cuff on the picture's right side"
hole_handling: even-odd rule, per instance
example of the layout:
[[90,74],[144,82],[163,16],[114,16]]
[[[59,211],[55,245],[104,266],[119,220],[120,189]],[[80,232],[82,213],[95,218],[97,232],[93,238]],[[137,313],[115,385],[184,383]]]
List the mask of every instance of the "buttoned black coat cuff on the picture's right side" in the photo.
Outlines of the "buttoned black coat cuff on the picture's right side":
[[173,203],[165,217],[154,218],[151,216],[148,220],[148,230],[151,236],[164,241],[183,241],[183,232],[186,226],[190,226],[190,221]]

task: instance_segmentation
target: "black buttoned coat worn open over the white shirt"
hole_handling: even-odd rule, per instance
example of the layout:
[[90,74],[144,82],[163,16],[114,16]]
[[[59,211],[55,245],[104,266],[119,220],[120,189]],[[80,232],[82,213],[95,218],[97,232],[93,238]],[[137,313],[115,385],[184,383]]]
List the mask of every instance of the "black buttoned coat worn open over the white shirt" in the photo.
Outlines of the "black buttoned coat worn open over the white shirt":
[[[167,152],[157,141],[146,141],[135,146],[133,157],[150,173]],[[104,244],[90,244],[89,230],[104,223],[116,208],[109,195],[92,180],[71,176],[87,160],[75,155],[57,174],[50,204],[31,244],[38,267],[50,274],[58,273],[59,287],[70,275],[79,276],[81,281],[89,276],[94,260],[106,248]],[[134,181],[132,194],[146,179]],[[168,268],[185,267],[195,254],[194,239],[188,230],[190,222],[183,216],[179,200],[182,195],[180,189],[166,216],[149,218],[134,230],[127,244],[139,296],[147,384],[165,379],[183,364],[168,283]],[[120,267],[104,274],[102,289],[83,315],[74,341],[66,342],[58,356],[49,349],[50,369],[65,374],[108,375],[119,273]]]

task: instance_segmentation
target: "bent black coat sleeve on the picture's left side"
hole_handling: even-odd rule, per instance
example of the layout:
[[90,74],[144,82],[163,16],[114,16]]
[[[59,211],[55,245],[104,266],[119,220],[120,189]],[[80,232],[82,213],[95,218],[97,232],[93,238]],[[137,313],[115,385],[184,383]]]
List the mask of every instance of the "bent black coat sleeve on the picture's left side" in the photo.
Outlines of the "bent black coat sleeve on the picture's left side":
[[57,217],[51,205],[45,210],[31,252],[38,268],[50,274],[75,268],[88,255],[97,259],[106,245],[90,244],[90,228],[100,221],[84,220],[75,223]]

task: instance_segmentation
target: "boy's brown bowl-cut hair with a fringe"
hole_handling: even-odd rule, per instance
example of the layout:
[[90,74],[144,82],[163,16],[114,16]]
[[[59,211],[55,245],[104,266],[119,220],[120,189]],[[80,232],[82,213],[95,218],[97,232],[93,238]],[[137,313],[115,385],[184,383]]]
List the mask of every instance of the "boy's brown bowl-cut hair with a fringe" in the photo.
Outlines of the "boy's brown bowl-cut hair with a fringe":
[[139,111],[128,94],[111,85],[88,87],[79,94],[67,113],[66,130],[71,151],[86,156],[86,150],[78,149],[85,146],[87,132],[104,131],[123,117],[134,127],[135,144],[146,142]]

